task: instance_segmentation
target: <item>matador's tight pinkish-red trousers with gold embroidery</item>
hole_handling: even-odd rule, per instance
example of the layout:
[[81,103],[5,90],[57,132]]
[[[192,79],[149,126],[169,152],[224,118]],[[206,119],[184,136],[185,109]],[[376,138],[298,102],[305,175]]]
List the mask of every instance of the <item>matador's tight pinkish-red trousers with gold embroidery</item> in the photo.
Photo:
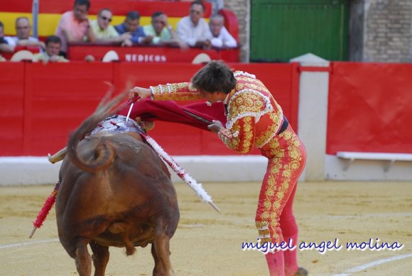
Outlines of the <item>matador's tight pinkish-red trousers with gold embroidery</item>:
[[298,228],[292,205],[296,184],[305,167],[305,146],[288,126],[269,140],[261,153],[269,160],[255,219],[261,244],[280,244],[289,238],[293,238],[295,244]]

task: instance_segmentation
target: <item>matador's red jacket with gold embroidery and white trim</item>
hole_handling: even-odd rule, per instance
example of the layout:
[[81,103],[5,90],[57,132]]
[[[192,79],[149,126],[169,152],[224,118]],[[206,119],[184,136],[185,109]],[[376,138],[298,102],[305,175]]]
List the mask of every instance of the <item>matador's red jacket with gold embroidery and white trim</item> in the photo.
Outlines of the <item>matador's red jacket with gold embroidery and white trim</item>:
[[[253,74],[234,72],[236,87],[227,102],[227,130],[219,137],[232,150],[248,153],[269,143],[283,123],[283,111],[271,92]],[[150,87],[155,100],[200,99],[190,82]]]

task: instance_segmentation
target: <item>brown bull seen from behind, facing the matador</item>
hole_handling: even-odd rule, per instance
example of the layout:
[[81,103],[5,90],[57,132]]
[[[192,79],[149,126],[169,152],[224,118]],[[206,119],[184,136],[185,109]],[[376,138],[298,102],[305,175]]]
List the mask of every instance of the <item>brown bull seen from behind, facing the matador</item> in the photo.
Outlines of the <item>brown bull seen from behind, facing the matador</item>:
[[125,247],[131,255],[135,246],[148,243],[155,260],[153,275],[174,275],[169,240],[178,226],[179,210],[170,174],[139,133],[129,128],[85,138],[106,116],[101,109],[67,144],[55,206],[60,242],[82,276],[91,274],[91,260],[94,275],[104,275],[109,246]]

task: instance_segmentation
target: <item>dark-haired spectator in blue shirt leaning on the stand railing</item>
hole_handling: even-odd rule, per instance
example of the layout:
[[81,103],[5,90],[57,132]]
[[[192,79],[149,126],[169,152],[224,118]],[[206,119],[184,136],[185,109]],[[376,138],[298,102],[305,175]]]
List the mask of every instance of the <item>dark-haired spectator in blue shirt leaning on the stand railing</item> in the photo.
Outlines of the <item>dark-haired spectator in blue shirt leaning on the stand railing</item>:
[[114,26],[114,28],[119,34],[123,34],[126,32],[131,33],[131,43],[143,44],[143,45],[150,44],[153,40],[153,36],[146,35],[144,33],[143,28],[139,26],[139,21],[140,21],[140,14],[137,11],[129,11],[126,14],[124,23]]

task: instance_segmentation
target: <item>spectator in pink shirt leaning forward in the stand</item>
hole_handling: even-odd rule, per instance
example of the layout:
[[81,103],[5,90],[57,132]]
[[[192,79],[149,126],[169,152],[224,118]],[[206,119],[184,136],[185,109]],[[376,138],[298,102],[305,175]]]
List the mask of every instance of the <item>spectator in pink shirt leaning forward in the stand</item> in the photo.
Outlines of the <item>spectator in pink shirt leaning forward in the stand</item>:
[[62,40],[60,55],[66,57],[68,43],[94,42],[95,36],[87,18],[89,9],[89,0],[75,0],[73,10],[63,13],[55,32]]

